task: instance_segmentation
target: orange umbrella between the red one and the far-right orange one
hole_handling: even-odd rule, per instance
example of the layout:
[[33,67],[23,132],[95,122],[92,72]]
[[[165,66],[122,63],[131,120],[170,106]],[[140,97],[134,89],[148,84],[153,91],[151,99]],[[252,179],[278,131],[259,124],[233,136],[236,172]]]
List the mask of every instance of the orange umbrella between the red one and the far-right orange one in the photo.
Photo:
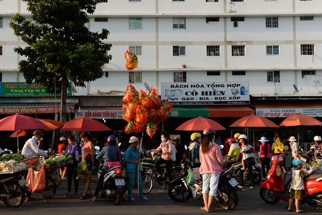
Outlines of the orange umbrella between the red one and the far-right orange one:
[[245,116],[232,123],[229,127],[268,127],[278,128],[279,126],[271,120],[257,115]]

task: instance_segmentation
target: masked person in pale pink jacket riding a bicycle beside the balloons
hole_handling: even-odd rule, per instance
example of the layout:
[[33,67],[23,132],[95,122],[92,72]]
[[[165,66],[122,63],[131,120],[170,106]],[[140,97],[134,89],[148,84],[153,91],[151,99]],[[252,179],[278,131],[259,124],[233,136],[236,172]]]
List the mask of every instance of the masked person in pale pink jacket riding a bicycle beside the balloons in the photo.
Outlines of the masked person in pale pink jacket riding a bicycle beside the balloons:
[[162,131],[161,134],[161,144],[160,146],[155,149],[155,150],[151,150],[151,152],[155,152],[158,153],[159,151],[162,150],[162,156],[161,158],[155,163],[155,167],[159,173],[159,175],[157,177],[164,177],[162,176],[162,171],[161,171],[161,167],[160,165],[162,164],[166,164],[166,173],[170,179],[170,181],[172,181],[172,176],[171,176],[171,166],[172,166],[172,140],[168,139],[168,135],[165,131]]

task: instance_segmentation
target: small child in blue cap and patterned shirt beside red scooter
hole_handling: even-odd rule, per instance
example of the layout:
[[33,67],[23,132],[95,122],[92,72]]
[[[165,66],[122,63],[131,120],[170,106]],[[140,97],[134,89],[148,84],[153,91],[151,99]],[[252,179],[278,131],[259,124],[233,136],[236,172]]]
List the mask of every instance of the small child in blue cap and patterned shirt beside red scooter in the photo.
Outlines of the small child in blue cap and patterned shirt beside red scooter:
[[[294,138],[295,139],[295,138]],[[313,165],[310,170],[305,173],[302,169],[304,163],[302,163],[299,159],[294,159],[292,161],[292,165],[294,166],[292,170],[292,182],[290,187],[290,200],[288,201],[287,211],[292,211],[292,204],[295,198],[295,207],[297,213],[305,213],[304,210],[299,208],[300,200],[303,200],[302,190],[304,189],[304,181],[303,177],[309,176],[314,170],[316,170],[316,166]]]

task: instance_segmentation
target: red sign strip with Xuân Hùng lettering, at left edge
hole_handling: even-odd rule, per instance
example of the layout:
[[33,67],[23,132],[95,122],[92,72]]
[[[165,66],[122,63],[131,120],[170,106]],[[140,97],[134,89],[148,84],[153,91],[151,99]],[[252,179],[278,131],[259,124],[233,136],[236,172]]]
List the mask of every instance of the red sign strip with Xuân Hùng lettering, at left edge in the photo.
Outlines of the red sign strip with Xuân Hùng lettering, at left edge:
[[[74,112],[74,105],[66,105],[66,113]],[[57,110],[57,111],[56,111]],[[33,114],[33,113],[59,113],[60,106],[13,106],[0,107],[0,114]]]

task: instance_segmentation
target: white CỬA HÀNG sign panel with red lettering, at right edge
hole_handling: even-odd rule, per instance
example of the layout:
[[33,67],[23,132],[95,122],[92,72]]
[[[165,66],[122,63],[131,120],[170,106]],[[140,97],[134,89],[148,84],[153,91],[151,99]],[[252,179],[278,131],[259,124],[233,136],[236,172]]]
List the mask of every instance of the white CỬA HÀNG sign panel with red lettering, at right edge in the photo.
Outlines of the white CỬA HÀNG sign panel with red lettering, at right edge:
[[322,108],[260,108],[256,115],[263,117],[288,117],[293,114],[303,114],[311,117],[322,117]]

